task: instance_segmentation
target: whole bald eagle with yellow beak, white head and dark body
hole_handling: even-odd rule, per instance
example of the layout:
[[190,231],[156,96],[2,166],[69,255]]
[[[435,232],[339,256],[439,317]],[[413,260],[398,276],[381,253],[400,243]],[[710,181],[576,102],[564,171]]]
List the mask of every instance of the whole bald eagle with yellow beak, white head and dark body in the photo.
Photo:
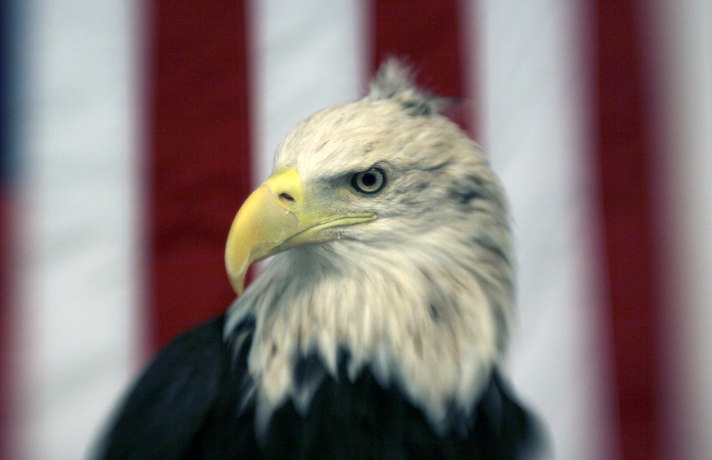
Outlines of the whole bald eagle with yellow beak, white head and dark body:
[[369,95],[292,129],[229,231],[237,299],[155,358],[98,457],[535,454],[500,370],[506,198],[443,101],[392,60]]

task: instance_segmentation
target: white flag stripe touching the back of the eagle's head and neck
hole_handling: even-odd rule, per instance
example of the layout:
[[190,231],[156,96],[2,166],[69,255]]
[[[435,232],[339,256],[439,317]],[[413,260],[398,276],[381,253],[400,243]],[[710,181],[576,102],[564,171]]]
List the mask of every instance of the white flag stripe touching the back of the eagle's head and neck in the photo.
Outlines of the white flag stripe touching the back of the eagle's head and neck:
[[540,415],[560,459],[611,458],[602,391],[591,230],[586,73],[572,2],[488,0],[473,10],[481,55],[484,149],[511,198],[518,240],[515,387]]

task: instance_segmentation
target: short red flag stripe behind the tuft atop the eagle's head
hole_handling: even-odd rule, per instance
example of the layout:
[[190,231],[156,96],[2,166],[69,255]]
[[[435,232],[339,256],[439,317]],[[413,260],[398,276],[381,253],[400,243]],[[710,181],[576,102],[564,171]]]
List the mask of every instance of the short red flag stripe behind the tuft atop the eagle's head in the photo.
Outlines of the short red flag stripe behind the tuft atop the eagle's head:
[[373,0],[369,60],[375,71],[385,58],[406,58],[417,70],[420,85],[464,100],[451,115],[472,132],[476,105],[466,82],[474,56],[466,46],[465,5],[457,0]]

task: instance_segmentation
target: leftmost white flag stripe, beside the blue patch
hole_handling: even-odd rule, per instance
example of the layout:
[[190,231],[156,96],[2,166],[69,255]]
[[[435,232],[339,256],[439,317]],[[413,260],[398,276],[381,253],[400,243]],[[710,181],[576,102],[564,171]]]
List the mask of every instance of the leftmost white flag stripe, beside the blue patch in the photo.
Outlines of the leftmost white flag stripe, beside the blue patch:
[[23,459],[78,459],[135,358],[132,2],[23,4]]

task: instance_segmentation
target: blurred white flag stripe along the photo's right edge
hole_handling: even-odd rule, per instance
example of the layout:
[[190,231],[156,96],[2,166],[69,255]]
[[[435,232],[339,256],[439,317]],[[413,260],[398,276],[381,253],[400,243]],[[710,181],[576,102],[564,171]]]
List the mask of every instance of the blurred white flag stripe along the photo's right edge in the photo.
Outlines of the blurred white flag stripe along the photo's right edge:
[[[660,120],[667,143],[661,172],[669,195],[666,210],[674,290],[668,304],[675,349],[669,384],[676,390],[671,417],[676,456],[712,458],[712,3],[663,2],[657,26],[666,70]],[[672,427],[671,427],[672,428]]]

